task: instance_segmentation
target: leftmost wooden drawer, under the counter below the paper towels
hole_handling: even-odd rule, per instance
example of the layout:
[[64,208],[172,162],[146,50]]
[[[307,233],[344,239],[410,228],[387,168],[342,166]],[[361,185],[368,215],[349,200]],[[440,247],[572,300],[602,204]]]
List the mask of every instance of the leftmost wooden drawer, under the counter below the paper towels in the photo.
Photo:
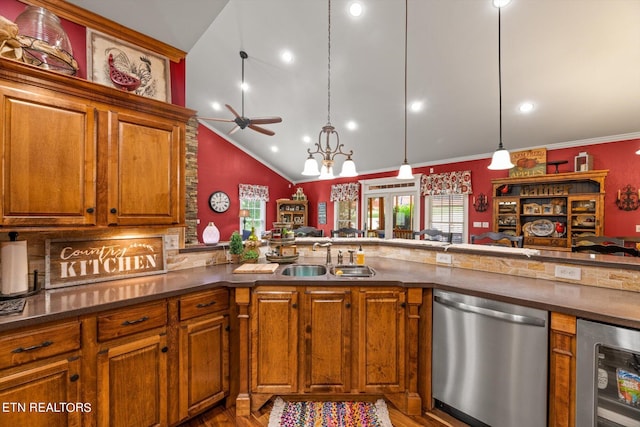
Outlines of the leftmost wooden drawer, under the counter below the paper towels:
[[67,322],[10,333],[0,338],[0,369],[79,348],[79,322]]

